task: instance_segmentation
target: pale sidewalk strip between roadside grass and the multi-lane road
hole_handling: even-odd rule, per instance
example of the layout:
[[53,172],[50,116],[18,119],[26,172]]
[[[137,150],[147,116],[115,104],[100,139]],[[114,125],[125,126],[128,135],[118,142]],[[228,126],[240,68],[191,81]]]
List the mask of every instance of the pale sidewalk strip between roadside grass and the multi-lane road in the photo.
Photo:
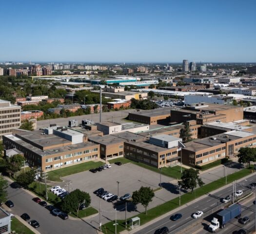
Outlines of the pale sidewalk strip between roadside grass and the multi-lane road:
[[[246,178],[248,178],[248,177],[251,177],[252,175],[254,175],[254,173],[252,173],[251,175],[248,175],[248,176],[244,176],[244,177],[238,179],[237,181],[244,180],[244,179],[246,179]],[[229,183],[229,184],[227,184],[227,185],[224,185],[224,186],[222,186],[221,188],[218,188],[217,190],[212,191],[212,193],[216,193],[216,192],[218,192],[218,191],[220,191],[220,190],[222,190],[222,189],[225,189],[225,188],[227,188],[227,187],[229,187],[229,186],[231,186],[231,185],[232,185],[232,183]],[[187,203],[187,204],[185,204],[185,205],[182,205],[182,206],[180,206],[180,207],[178,207],[178,208],[176,208],[176,209],[174,209],[174,210],[172,210],[172,211],[169,211],[168,213],[166,213],[166,214],[164,214],[164,215],[161,215],[161,216],[159,216],[159,217],[157,217],[157,218],[155,218],[155,219],[153,219],[153,220],[151,220],[151,221],[149,221],[149,222],[143,224],[142,226],[139,226],[138,228],[136,228],[136,229],[134,229],[134,230],[131,230],[131,231],[124,230],[124,231],[120,232],[120,234],[134,234],[135,232],[138,232],[138,231],[140,231],[141,229],[143,229],[143,228],[145,228],[145,227],[147,227],[147,226],[149,226],[149,225],[151,225],[151,224],[154,224],[154,223],[158,222],[160,219],[165,218],[166,216],[172,215],[173,213],[176,213],[177,211],[179,211],[179,210],[181,210],[181,209],[183,209],[183,208],[185,208],[185,207],[187,207],[187,206],[190,206],[190,205],[192,205],[193,203],[197,202],[198,200],[201,200],[202,198],[205,198],[205,197],[207,197],[207,196],[208,196],[208,195],[206,195],[206,194],[205,194],[205,195],[202,195],[202,196],[198,197],[197,199],[192,200],[192,201],[190,201],[189,203]]]

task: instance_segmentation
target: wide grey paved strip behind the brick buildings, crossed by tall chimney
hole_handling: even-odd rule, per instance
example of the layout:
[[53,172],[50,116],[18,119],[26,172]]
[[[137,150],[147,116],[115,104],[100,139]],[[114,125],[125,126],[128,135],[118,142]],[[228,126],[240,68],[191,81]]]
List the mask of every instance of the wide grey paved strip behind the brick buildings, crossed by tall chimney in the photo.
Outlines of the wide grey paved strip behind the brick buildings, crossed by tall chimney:
[[[114,121],[119,123],[127,123],[123,118],[127,117],[129,112],[136,112],[136,109],[122,110],[122,111],[110,111],[110,112],[102,112],[102,121]],[[67,126],[68,120],[77,119],[79,123],[82,122],[82,119],[92,119],[94,122],[99,122],[99,113],[83,115],[83,116],[74,116],[68,118],[52,118],[46,120],[37,121],[37,129],[48,127],[51,123],[56,123],[59,126]]]

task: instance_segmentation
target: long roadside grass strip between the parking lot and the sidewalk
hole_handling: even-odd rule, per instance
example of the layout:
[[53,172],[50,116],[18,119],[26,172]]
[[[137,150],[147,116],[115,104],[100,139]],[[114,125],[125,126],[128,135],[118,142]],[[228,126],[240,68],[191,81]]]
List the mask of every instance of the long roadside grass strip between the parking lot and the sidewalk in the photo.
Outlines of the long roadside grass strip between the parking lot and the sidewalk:
[[[236,172],[236,173],[233,173],[233,174],[227,176],[227,183],[231,183],[234,180],[237,180],[244,176],[248,176],[250,174],[251,174],[251,169],[242,169],[239,172]],[[201,188],[195,189],[193,194],[187,193],[187,194],[181,195],[181,205],[187,204],[188,202],[196,199],[197,197],[205,195],[206,193],[210,193],[224,185],[225,185],[225,178],[220,178],[217,181],[211,182],[209,184],[204,185]],[[170,212],[170,211],[176,209],[178,206],[179,206],[179,198],[176,197],[170,201],[167,201],[157,207],[154,207],[154,208],[148,210],[147,215],[145,215],[144,213],[140,213],[136,216],[138,216],[140,218],[140,225],[143,225],[160,215],[164,215],[167,212]],[[128,221],[130,219],[131,218],[129,218]],[[124,220],[117,220],[117,222],[118,222],[118,226],[117,226],[118,233],[125,230]],[[114,221],[104,224],[102,226],[102,231],[105,234],[114,234],[115,226],[113,226],[113,224],[114,224]]]

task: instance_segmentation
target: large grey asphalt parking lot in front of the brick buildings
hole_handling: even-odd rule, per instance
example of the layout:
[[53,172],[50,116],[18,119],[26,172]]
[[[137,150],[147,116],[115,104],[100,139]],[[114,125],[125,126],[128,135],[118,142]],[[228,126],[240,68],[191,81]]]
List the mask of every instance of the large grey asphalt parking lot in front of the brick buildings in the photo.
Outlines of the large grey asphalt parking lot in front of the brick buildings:
[[[93,194],[95,190],[102,187],[108,192],[122,196],[124,194],[131,194],[133,191],[138,190],[141,186],[151,187],[156,189],[159,187],[160,174],[141,168],[132,163],[123,164],[121,166],[111,164],[111,168],[102,170],[101,172],[91,173],[89,171],[82,172],[72,176],[63,177],[65,181],[72,181],[72,190],[79,188],[91,195],[92,202],[91,206],[99,210],[99,202],[101,205],[101,222],[102,224],[109,221],[109,219],[115,218],[115,208],[117,208],[117,218],[125,218],[124,204],[115,206],[115,202],[107,202],[97,195]],[[161,182],[163,186],[170,182],[171,178],[168,176],[161,176]],[[118,186],[118,182],[119,186]],[[168,184],[169,186],[169,184]],[[118,189],[119,187],[119,189]],[[157,206],[167,200],[170,200],[172,195],[175,196],[177,193],[174,189],[175,194],[170,193],[171,189],[166,187],[158,192],[153,198],[153,202],[150,203],[149,208]],[[173,192],[173,191],[172,191]],[[176,194],[177,195],[177,194]],[[138,205],[138,211],[144,212],[144,208]],[[133,207],[132,204],[127,206],[127,217],[137,215],[138,211]],[[99,221],[99,215],[92,218],[92,225],[96,225]]]

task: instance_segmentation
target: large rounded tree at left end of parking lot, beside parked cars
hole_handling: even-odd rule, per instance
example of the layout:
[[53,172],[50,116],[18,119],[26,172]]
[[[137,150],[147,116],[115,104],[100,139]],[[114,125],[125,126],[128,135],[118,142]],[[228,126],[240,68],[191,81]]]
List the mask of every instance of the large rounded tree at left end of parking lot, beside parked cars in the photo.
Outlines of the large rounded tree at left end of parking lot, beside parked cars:
[[91,196],[86,192],[76,189],[69,195],[65,196],[61,204],[61,208],[67,213],[77,212],[78,217],[79,207],[83,203],[88,207],[91,204]]

